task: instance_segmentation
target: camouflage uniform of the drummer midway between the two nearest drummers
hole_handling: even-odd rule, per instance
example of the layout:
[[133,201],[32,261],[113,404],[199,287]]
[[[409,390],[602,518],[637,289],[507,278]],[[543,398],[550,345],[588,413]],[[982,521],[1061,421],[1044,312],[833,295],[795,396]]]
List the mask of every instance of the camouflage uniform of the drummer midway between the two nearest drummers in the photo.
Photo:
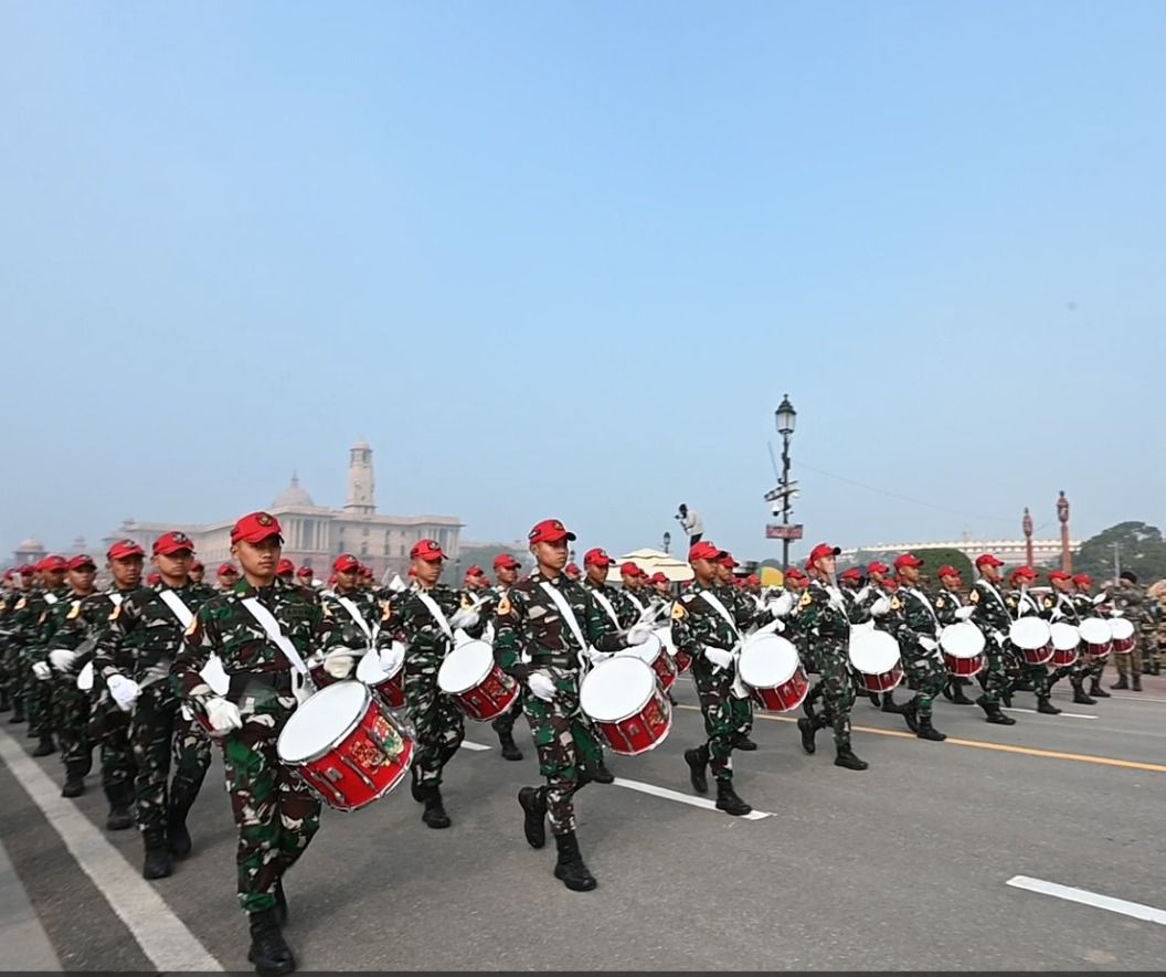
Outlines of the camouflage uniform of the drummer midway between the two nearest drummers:
[[[465,714],[457,702],[437,688],[437,669],[454,647],[445,630],[424,605],[419,593],[428,595],[449,619],[462,607],[458,591],[437,584],[431,590],[414,585],[394,602],[392,618],[381,628],[379,644],[394,638],[406,646],[405,701],[417,748],[413,758],[413,782],[419,800],[441,787],[442,771],[457,753],[465,737]],[[471,638],[482,634],[485,621],[463,628]]]

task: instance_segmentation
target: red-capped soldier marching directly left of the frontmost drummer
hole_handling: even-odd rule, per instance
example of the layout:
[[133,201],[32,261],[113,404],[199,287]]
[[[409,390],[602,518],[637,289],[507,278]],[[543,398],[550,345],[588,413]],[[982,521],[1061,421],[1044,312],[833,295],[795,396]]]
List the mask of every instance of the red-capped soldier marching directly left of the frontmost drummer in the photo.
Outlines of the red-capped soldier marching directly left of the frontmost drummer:
[[187,815],[211,762],[210,739],[192,717],[182,714],[170,684],[183,634],[211,599],[190,583],[194,555],[185,533],[166,533],[155,540],[153,563],[161,583],[131,592],[113,609],[93,656],[93,668],[107,686],[128,680],[138,688],[129,743],[145,848],[142,877],[147,879],[166,878],[174,870],[171,856],[190,853]]

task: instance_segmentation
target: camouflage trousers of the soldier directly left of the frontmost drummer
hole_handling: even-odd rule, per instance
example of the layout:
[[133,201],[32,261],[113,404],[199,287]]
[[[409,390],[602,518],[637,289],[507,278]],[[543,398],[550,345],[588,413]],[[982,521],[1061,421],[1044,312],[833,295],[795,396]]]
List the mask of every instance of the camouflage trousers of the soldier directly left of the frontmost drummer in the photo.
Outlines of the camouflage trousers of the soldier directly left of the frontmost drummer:
[[170,796],[170,759],[174,758],[174,793],[190,800],[198,794],[211,762],[211,741],[202,726],[185,719],[178,698],[167,682],[141,690],[129,728],[138,775],[138,827],[142,831],[166,827]]

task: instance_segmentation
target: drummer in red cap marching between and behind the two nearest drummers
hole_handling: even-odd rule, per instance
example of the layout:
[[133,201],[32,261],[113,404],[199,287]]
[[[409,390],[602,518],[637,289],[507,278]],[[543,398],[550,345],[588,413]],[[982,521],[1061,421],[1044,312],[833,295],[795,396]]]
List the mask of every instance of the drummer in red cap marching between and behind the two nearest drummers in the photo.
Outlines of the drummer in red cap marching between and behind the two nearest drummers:
[[445,554],[434,540],[417,542],[409,558],[416,583],[389,605],[391,619],[381,624],[379,640],[388,647],[395,637],[406,646],[406,709],[417,743],[413,797],[426,807],[421,820],[430,828],[449,828],[442,772],[461,747],[465,726],[458,704],[437,688],[437,669],[454,648],[454,631],[461,627],[477,638],[485,621],[477,611],[461,606],[457,591],[438,583]]

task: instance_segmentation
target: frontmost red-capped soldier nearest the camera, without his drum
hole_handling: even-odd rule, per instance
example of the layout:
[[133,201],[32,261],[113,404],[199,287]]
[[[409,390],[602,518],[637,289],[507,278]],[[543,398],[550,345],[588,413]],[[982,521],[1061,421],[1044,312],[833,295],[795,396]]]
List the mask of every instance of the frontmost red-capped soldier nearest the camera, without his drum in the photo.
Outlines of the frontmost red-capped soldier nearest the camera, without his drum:
[[[260,974],[288,974],[295,957],[283,940],[283,876],[319,828],[319,801],[280,762],[275,744],[305,694],[307,659],[326,651],[338,631],[302,588],[275,582],[280,523],[266,512],[231,529],[231,553],[244,577],[195,613],[171,673],[178,696],[223,746],[231,809],[239,828],[239,905],[251,928],[248,960]],[[218,696],[199,674],[222,660],[230,690]]]

